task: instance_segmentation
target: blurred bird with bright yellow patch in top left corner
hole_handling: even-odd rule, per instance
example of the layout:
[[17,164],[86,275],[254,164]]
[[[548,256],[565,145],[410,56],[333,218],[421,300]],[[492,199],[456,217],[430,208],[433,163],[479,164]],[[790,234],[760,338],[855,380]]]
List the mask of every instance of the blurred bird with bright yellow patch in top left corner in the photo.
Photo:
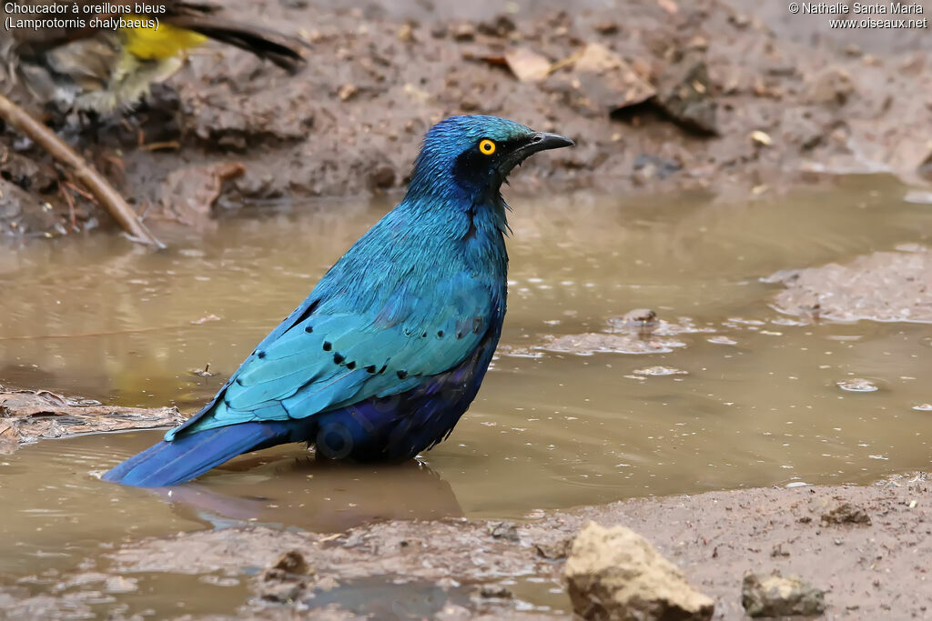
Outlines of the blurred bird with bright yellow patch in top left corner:
[[37,100],[101,114],[140,101],[152,84],[178,71],[186,50],[208,39],[289,72],[304,62],[305,46],[295,37],[227,20],[218,7],[184,0],[148,0],[144,7],[144,13],[131,14],[99,0],[4,3],[4,17],[14,27],[0,52],[9,73]]

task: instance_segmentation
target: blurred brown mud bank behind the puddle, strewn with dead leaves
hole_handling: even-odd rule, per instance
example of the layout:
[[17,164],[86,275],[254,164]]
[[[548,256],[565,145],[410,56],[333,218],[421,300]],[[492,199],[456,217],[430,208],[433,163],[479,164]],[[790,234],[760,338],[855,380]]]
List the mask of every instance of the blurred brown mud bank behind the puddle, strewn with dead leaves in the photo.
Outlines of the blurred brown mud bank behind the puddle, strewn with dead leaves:
[[[517,3],[500,14],[495,3],[465,13],[226,3],[305,38],[308,68],[289,77],[205,47],[128,117],[58,122],[140,211],[186,224],[244,204],[401,188],[422,133],[455,113],[577,142],[515,175],[523,192],[762,194],[823,172],[918,178],[930,147],[911,128],[932,122],[932,86],[918,79],[928,47],[844,39],[824,16],[793,22],[736,4],[617,0],[570,14]],[[2,230],[55,236],[107,222],[9,130],[0,154]]]

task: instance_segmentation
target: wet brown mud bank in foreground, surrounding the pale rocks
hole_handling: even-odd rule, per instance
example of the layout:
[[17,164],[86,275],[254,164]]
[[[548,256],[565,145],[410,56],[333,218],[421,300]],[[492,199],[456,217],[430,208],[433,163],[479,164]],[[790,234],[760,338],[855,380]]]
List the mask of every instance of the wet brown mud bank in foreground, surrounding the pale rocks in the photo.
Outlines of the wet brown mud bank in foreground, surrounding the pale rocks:
[[132,592],[140,576],[158,573],[242,583],[233,603],[259,618],[359,618],[392,612],[387,601],[394,613],[433,618],[566,618],[569,542],[594,520],[650,540],[715,600],[716,619],[747,618],[743,575],[774,570],[824,589],[825,618],[923,617],[932,607],[930,501],[925,475],[916,474],[870,487],[643,498],[520,523],[388,521],[334,534],[226,528],[127,541],[55,577],[60,595],[30,597],[34,576],[0,586],[0,601],[7,618],[81,614],[106,601],[102,593]]

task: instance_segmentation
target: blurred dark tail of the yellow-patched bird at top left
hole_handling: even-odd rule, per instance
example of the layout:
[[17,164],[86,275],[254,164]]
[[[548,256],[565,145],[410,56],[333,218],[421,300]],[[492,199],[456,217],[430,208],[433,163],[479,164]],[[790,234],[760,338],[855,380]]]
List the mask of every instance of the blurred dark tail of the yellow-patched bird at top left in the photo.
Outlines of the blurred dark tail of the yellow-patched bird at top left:
[[179,16],[171,20],[171,25],[240,47],[291,73],[295,73],[305,62],[302,50],[307,46],[303,41],[267,28],[225,20],[216,15]]

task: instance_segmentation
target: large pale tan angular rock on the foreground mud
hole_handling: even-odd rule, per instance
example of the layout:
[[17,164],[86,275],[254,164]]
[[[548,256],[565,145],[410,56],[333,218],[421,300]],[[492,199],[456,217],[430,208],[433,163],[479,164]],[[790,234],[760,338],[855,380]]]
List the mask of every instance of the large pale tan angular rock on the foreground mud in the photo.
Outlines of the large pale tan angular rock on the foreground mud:
[[714,602],[624,526],[595,522],[573,541],[565,569],[573,609],[587,619],[711,619]]

